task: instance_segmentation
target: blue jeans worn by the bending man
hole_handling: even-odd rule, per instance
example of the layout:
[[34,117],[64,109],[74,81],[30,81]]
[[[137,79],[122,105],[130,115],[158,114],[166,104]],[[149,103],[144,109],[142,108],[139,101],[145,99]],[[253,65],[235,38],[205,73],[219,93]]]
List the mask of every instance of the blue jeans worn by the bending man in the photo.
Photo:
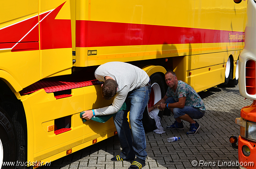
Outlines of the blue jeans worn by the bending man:
[[[120,156],[123,159],[133,159],[136,155],[137,158],[146,160],[146,137],[142,117],[149,100],[150,91],[151,86],[130,91],[125,100],[128,110],[121,110],[114,116],[115,127],[122,147]],[[128,111],[130,111],[131,129],[127,118]]]

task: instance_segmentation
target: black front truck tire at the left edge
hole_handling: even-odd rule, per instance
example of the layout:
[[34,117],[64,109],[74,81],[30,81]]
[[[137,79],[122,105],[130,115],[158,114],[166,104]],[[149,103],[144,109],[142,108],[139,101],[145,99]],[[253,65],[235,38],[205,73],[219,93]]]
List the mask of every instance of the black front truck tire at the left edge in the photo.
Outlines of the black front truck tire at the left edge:
[[0,108],[0,168],[14,169],[15,164],[4,165],[5,162],[17,161],[17,143],[13,125],[9,117],[7,117]]

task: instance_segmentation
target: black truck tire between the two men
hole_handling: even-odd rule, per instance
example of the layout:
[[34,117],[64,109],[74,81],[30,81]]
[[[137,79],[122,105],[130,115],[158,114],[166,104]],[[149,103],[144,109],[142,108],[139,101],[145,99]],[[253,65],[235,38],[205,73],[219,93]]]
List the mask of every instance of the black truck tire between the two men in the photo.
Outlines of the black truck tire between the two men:
[[[151,93],[150,93],[150,100],[154,101],[155,104],[157,101],[161,100],[167,91],[167,85],[165,83],[164,74],[163,73],[154,73],[150,76],[150,83],[151,83]],[[154,86],[155,85],[155,86]],[[154,90],[154,88],[156,90]],[[153,99],[154,97],[154,99]],[[158,100],[159,99],[159,100]],[[150,101],[148,103],[150,105]],[[152,106],[152,105],[151,105]],[[153,110],[154,113],[162,119],[163,111],[159,111],[158,109]],[[153,112],[152,111],[152,112]],[[148,113],[148,106],[145,108],[143,113],[143,127],[145,131],[153,131],[156,129],[154,118],[150,117]]]

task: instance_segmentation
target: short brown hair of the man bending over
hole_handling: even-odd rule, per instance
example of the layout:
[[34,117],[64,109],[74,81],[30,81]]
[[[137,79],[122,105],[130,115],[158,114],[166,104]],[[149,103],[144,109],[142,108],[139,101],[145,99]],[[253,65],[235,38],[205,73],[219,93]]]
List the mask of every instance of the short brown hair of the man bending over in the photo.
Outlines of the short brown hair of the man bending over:
[[115,96],[117,83],[113,79],[107,79],[102,85],[102,97],[105,100],[110,100]]

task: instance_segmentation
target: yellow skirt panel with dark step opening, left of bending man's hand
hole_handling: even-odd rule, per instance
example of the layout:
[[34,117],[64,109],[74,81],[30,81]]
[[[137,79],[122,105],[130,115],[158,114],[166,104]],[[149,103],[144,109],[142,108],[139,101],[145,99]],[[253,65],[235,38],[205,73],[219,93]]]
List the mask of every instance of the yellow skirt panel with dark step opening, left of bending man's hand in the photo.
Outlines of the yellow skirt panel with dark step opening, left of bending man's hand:
[[[33,135],[31,142],[35,143],[33,150],[34,159],[40,160],[57,154],[68,147],[74,147],[83,141],[83,121],[79,117],[79,112],[84,110],[84,90],[77,88],[72,90],[72,96],[56,100],[53,93],[45,93],[44,90],[37,91],[31,95],[22,96],[28,117],[33,117]],[[55,135],[53,131],[48,132],[47,127],[54,125],[54,119],[60,117],[71,117],[71,131]],[[30,123],[30,118],[28,119]],[[31,124],[31,123],[30,123]],[[31,128],[28,126],[28,132]]]

